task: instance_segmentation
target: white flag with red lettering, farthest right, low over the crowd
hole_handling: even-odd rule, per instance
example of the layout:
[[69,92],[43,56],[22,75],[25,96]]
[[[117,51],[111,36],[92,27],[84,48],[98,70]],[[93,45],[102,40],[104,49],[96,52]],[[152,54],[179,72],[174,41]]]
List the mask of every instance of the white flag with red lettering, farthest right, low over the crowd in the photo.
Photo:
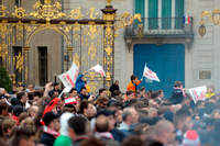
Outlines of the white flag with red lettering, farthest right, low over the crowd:
[[191,88],[191,89],[188,89],[188,91],[195,103],[197,103],[197,101],[199,100],[202,100],[202,101],[206,100],[206,92],[207,92],[206,86]]

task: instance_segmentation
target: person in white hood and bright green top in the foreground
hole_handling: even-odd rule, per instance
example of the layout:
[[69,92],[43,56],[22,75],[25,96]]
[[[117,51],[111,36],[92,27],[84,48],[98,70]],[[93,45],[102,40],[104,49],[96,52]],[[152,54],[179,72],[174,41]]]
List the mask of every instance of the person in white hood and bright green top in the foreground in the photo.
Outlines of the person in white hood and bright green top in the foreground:
[[61,116],[61,135],[56,138],[53,146],[72,146],[72,139],[68,135],[68,120],[73,117],[72,113],[63,113]]

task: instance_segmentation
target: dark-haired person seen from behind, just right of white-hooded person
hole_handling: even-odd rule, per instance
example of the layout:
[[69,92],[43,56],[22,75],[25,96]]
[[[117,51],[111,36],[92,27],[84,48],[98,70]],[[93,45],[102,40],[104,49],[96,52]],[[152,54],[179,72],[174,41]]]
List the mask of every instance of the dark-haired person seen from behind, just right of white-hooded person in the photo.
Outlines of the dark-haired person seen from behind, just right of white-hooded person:
[[79,146],[90,135],[90,124],[86,116],[75,115],[68,120],[68,134],[74,146]]

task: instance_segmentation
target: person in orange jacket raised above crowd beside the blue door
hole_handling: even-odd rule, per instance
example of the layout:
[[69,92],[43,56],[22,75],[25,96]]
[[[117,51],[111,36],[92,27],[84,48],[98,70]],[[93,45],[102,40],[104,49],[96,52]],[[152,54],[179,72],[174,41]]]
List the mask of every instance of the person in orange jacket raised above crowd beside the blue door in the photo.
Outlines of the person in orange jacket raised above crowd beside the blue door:
[[129,82],[127,87],[127,91],[133,91],[134,93],[138,91],[138,86],[142,82],[142,79],[139,80],[139,78],[135,75],[131,76],[131,81]]

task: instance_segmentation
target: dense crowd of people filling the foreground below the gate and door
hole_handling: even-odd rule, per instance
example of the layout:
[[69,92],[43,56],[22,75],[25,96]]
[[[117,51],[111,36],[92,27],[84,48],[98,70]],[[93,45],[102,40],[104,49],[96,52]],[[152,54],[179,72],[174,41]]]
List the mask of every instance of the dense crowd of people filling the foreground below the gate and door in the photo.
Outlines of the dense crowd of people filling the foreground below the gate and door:
[[138,88],[141,81],[132,75],[125,93],[118,80],[90,93],[84,76],[62,96],[57,82],[0,88],[0,146],[219,146],[213,88],[195,103],[180,81],[170,97]]

